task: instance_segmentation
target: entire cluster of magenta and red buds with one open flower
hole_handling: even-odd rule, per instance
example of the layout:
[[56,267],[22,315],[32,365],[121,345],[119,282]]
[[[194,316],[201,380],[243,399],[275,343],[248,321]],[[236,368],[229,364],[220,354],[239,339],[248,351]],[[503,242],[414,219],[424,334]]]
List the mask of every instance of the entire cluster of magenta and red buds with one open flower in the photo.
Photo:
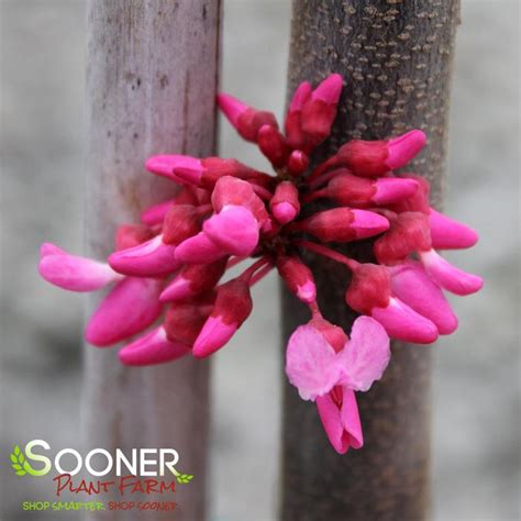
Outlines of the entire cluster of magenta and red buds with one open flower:
[[[303,399],[315,401],[339,453],[363,445],[355,391],[381,377],[389,337],[429,344],[452,333],[457,319],[443,290],[469,295],[483,285],[436,252],[473,246],[477,234],[430,207],[425,179],[393,171],[420,152],[423,132],[350,141],[310,168],[330,135],[342,82],[333,74],[315,89],[301,84],[284,131],[271,112],[220,95],[224,115],[275,175],[235,159],[153,156],[146,169],[180,186],[175,199],[146,209],[140,224],[121,225],[104,263],[52,244],[40,260],[41,275],[62,288],[113,286],[86,337],[101,347],[126,341],[119,351],[126,365],[215,353],[251,314],[252,286],[275,268],[311,317],[289,340],[286,373]],[[374,263],[332,247],[368,237]],[[323,318],[303,251],[351,271],[345,302],[361,317],[350,335]],[[248,258],[239,276],[226,275]]]

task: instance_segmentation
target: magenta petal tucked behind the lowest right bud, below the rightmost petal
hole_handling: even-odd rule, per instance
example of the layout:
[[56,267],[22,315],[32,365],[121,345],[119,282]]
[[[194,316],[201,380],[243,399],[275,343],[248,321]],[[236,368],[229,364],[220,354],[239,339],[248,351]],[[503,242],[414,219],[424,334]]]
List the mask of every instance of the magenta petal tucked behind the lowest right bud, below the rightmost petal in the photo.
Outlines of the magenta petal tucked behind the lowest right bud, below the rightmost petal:
[[409,260],[389,271],[391,290],[396,297],[433,322],[440,334],[451,334],[456,330],[457,317],[443,291],[420,263]]

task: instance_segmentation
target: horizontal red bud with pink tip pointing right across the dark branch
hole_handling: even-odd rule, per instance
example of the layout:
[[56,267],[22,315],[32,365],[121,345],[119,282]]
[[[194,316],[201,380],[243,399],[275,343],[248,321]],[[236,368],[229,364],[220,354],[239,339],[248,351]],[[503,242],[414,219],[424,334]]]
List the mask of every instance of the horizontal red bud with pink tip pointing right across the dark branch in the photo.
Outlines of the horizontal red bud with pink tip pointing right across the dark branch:
[[297,230],[311,233],[323,242],[350,242],[385,232],[389,222],[378,213],[350,208],[318,212],[297,223]]

